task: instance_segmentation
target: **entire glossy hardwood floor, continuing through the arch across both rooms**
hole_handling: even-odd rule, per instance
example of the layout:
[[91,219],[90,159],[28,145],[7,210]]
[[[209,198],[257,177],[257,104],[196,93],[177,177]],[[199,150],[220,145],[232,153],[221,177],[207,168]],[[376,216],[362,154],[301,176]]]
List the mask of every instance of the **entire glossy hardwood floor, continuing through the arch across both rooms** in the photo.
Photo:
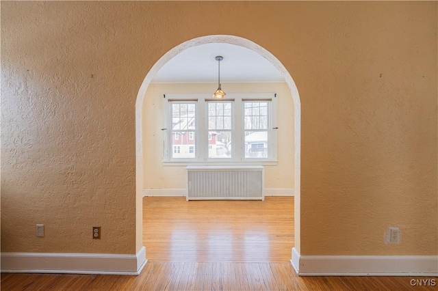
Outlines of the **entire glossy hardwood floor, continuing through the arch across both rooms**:
[[417,277],[298,277],[291,197],[265,202],[144,198],[149,262],[139,276],[1,274],[1,290],[436,290]]

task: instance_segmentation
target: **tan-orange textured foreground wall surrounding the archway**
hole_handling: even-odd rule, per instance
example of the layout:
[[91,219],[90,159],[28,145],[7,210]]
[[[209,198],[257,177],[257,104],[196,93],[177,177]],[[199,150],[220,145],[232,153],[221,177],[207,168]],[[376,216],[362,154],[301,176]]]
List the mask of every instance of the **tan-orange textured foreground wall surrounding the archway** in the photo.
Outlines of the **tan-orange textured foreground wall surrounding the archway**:
[[437,254],[433,1],[2,1],[1,251],[136,251],[136,94],[211,34],[263,46],[298,87],[302,255]]

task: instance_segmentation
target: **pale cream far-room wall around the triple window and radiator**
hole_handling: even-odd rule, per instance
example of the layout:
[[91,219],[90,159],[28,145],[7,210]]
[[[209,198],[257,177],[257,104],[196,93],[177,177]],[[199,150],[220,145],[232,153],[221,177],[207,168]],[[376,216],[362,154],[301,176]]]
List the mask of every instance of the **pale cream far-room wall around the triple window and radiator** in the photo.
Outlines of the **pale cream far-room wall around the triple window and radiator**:
[[[164,166],[163,161],[163,94],[210,92],[215,84],[151,84],[143,107],[144,189],[185,188],[186,166]],[[216,84],[217,87],[217,84]],[[265,166],[265,187],[294,188],[294,103],[286,83],[223,83],[228,93],[276,93],[279,163]],[[215,89],[213,89],[214,91]],[[171,178],[170,178],[171,177]]]

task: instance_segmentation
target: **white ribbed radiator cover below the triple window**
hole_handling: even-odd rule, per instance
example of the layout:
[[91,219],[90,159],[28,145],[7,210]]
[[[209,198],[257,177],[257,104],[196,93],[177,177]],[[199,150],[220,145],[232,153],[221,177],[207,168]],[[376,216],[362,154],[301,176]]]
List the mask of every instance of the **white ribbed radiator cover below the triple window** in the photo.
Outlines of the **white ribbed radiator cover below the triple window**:
[[188,166],[187,200],[264,200],[262,166]]

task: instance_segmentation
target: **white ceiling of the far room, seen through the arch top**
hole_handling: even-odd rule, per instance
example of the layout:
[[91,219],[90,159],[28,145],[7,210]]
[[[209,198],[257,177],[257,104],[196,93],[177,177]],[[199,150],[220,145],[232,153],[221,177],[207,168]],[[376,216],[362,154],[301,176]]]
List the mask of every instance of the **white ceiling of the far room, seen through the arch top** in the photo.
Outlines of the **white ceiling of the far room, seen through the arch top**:
[[214,43],[182,51],[155,74],[152,83],[217,83],[218,55],[224,57],[220,61],[220,83],[285,81],[258,53],[234,44]]

